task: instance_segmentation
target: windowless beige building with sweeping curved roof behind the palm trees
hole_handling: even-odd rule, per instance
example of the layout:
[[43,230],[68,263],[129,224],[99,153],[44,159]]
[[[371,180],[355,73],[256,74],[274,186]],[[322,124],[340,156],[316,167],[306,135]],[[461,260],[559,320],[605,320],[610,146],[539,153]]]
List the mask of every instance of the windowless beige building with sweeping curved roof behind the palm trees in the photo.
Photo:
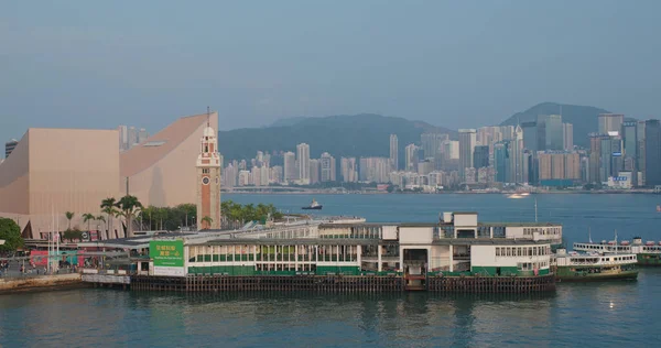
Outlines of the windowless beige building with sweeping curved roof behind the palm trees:
[[[82,215],[100,213],[102,199],[126,195],[127,177],[129,194],[144,206],[194,204],[195,163],[207,119],[217,129],[217,112],[183,117],[121,153],[117,129],[28,129],[0,165],[0,216],[19,220],[28,239],[45,237],[53,215],[64,229],[65,211],[75,213],[72,226],[87,227]],[[95,227],[104,225],[110,226]],[[101,238],[126,237],[118,220],[112,218],[111,226]]]

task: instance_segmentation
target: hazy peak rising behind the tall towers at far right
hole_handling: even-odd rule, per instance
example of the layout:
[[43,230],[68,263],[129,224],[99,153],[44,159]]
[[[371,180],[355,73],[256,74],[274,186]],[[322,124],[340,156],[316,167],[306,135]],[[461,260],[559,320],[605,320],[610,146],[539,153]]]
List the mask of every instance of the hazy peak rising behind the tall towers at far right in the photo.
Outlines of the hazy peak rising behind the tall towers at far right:
[[566,105],[557,102],[542,102],[534,107],[512,115],[505,120],[501,126],[516,126],[518,122],[537,121],[538,115],[559,115],[562,107],[562,121],[574,124],[574,144],[579,146],[589,146],[588,133],[598,130],[597,116],[608,113],[609,111],[577,105]]

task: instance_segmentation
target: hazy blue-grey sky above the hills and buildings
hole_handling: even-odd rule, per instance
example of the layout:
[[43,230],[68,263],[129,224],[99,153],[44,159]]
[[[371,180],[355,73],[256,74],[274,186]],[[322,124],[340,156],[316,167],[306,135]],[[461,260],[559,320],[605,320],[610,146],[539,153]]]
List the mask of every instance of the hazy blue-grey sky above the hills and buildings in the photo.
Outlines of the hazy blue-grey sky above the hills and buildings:
[[377,112],[448,128],[538,102],[660,117],[661,1],[3,1],[0,141]]

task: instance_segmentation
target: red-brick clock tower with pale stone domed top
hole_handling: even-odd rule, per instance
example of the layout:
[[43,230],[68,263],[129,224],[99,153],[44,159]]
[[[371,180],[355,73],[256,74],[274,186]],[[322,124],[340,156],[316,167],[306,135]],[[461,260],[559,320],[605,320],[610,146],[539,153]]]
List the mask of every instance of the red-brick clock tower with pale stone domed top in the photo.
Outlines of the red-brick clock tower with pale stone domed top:
[[207,110],[197,156],[197,229],[201,230],[220,229],[220,154],[209,115]]

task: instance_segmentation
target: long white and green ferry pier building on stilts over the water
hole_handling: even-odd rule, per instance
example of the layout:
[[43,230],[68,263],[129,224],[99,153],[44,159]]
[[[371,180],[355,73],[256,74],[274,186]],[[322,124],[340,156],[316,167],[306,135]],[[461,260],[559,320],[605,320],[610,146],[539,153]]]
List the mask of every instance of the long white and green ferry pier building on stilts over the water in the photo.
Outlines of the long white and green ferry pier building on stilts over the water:
[[[260,275],[389,275],[403,281],[399,290],[447,291],[436,280],[490,278],[492,283],[548,278],[553,283],[551,257],[561,242],[561,225],[479,222],[477,213],[443,213],[433,224],[368,224],[339,217],[254,231],[155,237],[130,248],[150,249],[149,275],[226,275],[228,281]],[[163,248],[181,251],[177,262],[163,264],[155,252]]]

